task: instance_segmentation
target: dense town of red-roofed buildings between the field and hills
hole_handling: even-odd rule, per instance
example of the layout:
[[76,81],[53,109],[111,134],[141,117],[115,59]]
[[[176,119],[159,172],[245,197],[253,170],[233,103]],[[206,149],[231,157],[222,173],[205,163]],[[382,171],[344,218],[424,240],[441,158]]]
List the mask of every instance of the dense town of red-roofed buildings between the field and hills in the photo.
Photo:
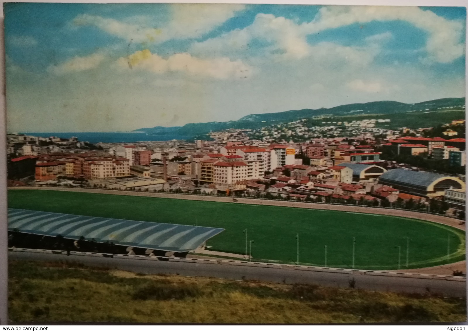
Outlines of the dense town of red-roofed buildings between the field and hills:
[[[465,217],[465,138],[423,137],[405,128],[373,131],[369,121],[351,123],[356,136],[281,139],[283,133],[305,135],[300,123],[263,130],[262,140],[250,139],[251,130],[231,129],[192,143],[90,144],[8,134],[8,183],[350,203]],[[398,157],[458,171],[387,159]]]

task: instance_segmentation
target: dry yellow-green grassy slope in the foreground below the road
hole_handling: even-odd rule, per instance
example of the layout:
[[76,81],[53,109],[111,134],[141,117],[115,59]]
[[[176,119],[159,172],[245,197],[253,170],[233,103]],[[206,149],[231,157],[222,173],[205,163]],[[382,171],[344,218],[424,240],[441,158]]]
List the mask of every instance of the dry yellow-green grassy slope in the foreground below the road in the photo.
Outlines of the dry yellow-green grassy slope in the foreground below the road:
[[[9,261],[12,322],[462,322],[466,299]],[[350,284],[351,285],[351,284]]]

